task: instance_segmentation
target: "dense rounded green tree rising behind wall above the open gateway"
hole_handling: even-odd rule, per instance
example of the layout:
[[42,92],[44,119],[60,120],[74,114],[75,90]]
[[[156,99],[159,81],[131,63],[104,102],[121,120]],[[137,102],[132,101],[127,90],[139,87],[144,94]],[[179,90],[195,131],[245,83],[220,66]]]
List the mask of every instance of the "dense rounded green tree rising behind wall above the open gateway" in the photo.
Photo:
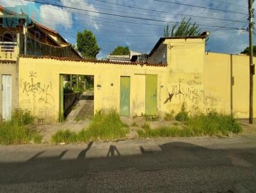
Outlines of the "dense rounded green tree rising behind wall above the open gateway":
[[77,32],[77,50],[84,58],[96,59],[100,47],[92,31],[84,30]]

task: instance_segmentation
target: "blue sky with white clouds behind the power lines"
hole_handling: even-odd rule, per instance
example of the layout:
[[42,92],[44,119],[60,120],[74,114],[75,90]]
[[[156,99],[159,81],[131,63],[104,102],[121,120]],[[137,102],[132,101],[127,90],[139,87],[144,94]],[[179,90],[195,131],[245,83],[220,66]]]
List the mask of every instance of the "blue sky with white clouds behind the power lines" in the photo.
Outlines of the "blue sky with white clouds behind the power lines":
[[[179,4],[164,3],[154,0],[36,0],[43,2],[36,3],[35,6],[40,12],[40,22],[45,26],[55,29],[70,43],[76,42],[77,31],[90,29],[97,37],[100,45],[100,53],[97,58],[106,58],[117,45],[129,46],[130,49],[138,52],[150,52],[157,40],[163,36],[163,29],[167,21],[172,26],[172,22],[180,22],[183,15],[193,15],[192,22],[200,24],[202,31],[211,31],[211,37],[207,43],[206,50],[211,52],[225,52],[237,54],[248,46],[248,33],[237,29],[223,29],[213,26],[226,26],[236,28],[247,28],[247,15],[220,12],[204,8],[195,8]],[[104,2],[102,2],[104,1]],[[166,0],[195,6],[204,6],[229,10],[246,14],[247,1],[244,0]],[[106,3],[108,2],[108,3]],[[45,3],[45,4],[44,4]],[[60,8],[47,3],[59,4],[68,7],[83,9],[72,10]],[[141,9],[128,8],[111,3],[134,6]],[[15,6],[29,4],[22,0],[0,0],[3,6]],[[31,4],[31,2],[30,2]],[[32,3],[33,4],[33,3]],[[236,4],[236,5],[234,5]],[[254,5],[255,6],[255,5]],[[90,10],[92,12],[84,11]],[[149,10],[154,10],[149,11]],[[150,20],[127,19],[101,13],[113,13],[116,15],[126,15],[147,19],[164,20],[166,22],[156,22]],[[164,13],[163,13],[164,12]],[[198,17],[196,17],[198,16]],[[202,17],[212,17],[225,20],[207,19]],[[186,19],[189,19],[187,16]],[[233,21],[227,21],[233,20]],[[239,20],[241,22],[234,22]]]

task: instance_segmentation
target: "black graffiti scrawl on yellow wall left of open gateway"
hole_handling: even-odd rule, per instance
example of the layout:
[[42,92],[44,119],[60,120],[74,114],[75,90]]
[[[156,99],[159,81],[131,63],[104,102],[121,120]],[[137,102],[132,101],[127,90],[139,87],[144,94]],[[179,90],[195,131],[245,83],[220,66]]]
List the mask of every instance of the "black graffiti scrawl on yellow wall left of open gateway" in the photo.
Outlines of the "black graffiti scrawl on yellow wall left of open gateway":
[[28,74],[27,80],[20,78],[19,87],[22,93],[31,97],[31,104],[33,104],[34,112],[36,103],[40,103],[40,106],[42,106],[38,109],[38,119],[40,120],[45,119],[47,112],[51,111],[54,98],[51,95],[52,82],[38,82],[36,79],[37,73],[31,71]]

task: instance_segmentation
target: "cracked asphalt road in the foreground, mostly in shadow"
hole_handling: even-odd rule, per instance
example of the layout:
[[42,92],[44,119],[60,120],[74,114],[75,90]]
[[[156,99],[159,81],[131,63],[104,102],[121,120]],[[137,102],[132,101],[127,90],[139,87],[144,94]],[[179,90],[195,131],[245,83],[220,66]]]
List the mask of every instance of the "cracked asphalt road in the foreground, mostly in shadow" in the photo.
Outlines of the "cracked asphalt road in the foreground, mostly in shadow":
[[256,192],[256,136],[0,146],[0,192]]

